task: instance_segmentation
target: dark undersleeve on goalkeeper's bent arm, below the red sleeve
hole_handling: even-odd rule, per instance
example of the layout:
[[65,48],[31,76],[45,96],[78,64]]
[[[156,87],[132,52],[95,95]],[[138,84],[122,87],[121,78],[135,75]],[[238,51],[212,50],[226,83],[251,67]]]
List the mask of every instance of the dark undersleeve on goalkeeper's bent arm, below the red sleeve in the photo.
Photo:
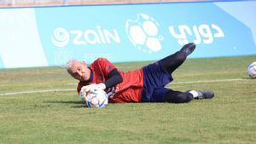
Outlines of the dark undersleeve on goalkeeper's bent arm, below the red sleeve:
[[103,83],[106,85],[106,88],[111,88],[115,84],[119,84],[123,82],[123,78],[118,72],[118,70],[115,68],[111,72],[108,73],[108,79]]

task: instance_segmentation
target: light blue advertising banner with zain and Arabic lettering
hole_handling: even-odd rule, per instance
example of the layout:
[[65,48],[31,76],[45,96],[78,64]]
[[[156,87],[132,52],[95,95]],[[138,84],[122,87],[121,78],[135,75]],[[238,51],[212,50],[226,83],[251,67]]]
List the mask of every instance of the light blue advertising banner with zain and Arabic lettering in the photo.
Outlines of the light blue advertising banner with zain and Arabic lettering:
[[0,68],[256,55],[256,1],[0,9]]

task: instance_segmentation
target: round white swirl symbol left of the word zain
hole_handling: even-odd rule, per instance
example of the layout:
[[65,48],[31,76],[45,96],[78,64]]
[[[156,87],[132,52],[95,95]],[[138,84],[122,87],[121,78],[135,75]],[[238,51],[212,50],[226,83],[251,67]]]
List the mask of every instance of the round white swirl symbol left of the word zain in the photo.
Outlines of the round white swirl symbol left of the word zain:
[[58,27],[55,29],[54,36],[51,37],[51,42],[59,48],[67,46],[69,42],[69,33],[65,28]]

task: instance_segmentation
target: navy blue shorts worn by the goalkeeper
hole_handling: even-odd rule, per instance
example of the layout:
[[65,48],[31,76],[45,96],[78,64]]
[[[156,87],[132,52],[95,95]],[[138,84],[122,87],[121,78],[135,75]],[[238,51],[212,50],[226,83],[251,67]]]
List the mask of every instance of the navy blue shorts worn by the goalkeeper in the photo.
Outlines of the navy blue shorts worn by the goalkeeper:
[[157,61],[143,67],[143,102],[163,102],[164,95],[170,90],[166,89],[166,84],[172,82],[173,78],[161,64]]

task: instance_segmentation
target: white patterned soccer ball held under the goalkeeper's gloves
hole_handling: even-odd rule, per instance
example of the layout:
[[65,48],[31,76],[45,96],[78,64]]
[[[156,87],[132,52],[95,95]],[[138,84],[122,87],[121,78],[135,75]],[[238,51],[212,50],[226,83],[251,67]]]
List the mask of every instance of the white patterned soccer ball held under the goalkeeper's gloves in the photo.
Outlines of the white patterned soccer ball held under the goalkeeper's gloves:
[[108,105],[108,95],[102,89],[89,92],[85,97],[87,107],[102,108]]

